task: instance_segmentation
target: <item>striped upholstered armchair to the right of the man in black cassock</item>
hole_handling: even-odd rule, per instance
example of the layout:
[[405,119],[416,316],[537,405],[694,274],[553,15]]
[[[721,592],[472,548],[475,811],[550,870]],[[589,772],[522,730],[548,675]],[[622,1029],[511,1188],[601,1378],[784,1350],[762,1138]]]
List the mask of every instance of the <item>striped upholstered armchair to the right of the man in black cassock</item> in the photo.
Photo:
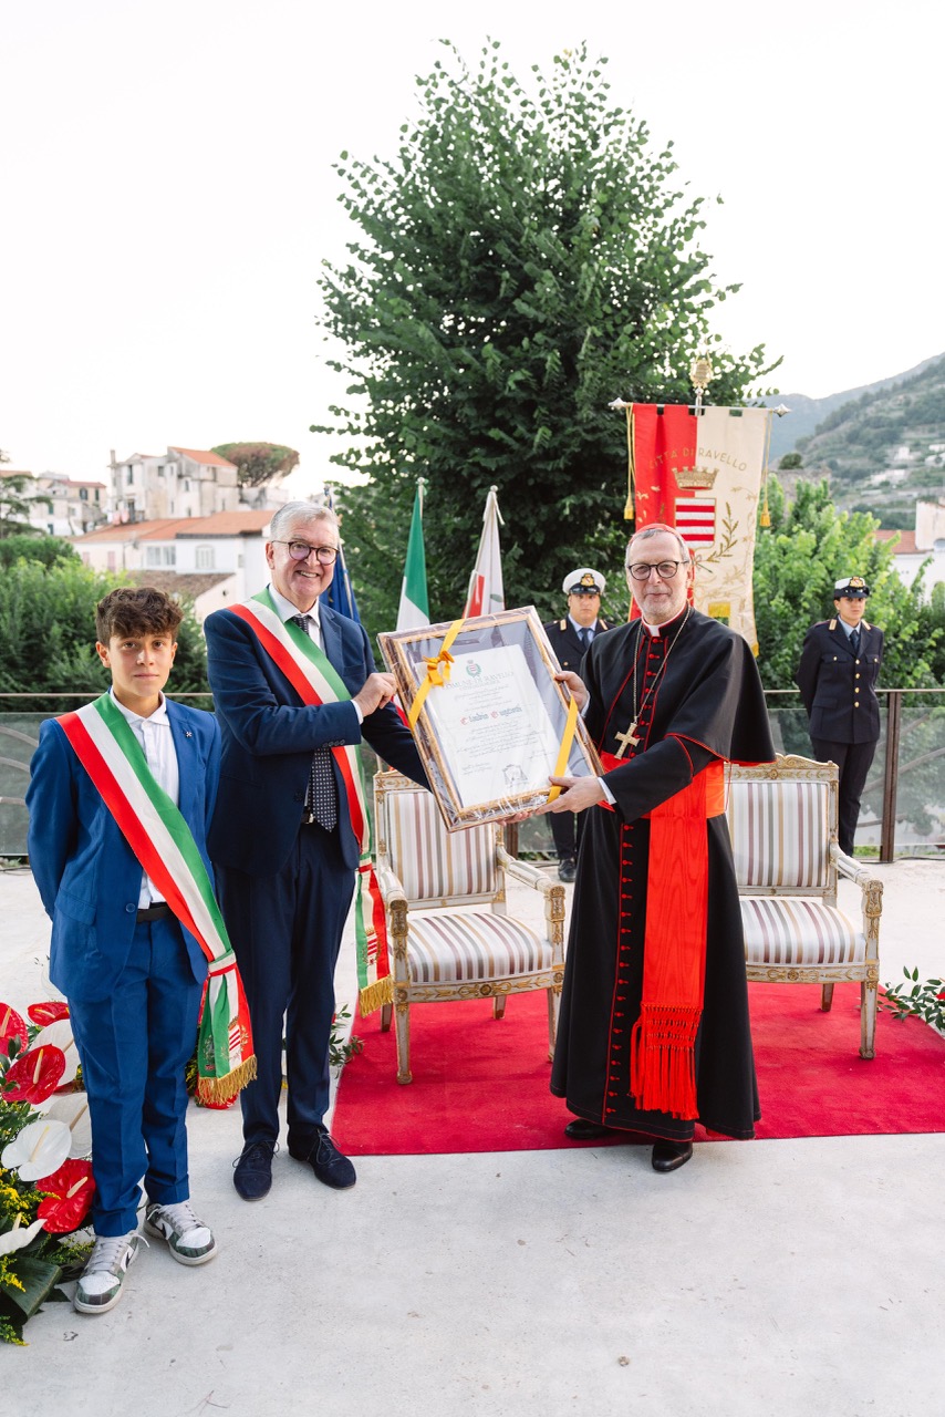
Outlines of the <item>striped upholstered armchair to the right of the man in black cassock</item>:
[[[779,755],[732,768],[727,813],[748,978],[820,983],[822,1009],[837,981],[859,981],[860,1056],[871,1058],[883,883],[837,846],[836,764]],[[837,908],[837,874],[860,887],[859,922]]]

